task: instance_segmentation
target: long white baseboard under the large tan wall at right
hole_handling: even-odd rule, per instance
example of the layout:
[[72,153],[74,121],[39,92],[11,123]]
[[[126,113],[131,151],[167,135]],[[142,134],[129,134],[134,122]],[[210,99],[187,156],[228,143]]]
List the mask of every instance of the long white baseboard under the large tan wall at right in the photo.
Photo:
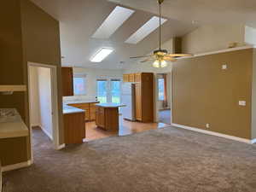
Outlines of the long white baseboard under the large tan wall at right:
[[[238,142],[242,142],[242,143],[249,143],[252,144],[254,140],[249,140],[249,139],[244,139],[241,137],[234,137],[234,136],[229,136],[229,135],[225,135],[222,133],[218,133],[218,132],[213,132],[213,131],[207,131],[207,130],[201,130],[199,128],[195,128],[195,127],[190,127],[190,126],[186,126],[186,125],[178,125],[178,124],[173,124],[172,126],[176,126],[178,128],[183,128],[185,130],[190,130],[190,131],[196,131],[196,132],[201,132],[201,133],[205,133],[207,135],[212,135],[212,136],[217,136],[217,137],[224,137],[224,138],[228,138],[228,139],[232,139],[232,140],[236,140]],[[256,140],[256,139],[255,139]],[[256,141],[254,141],[256,142]]]

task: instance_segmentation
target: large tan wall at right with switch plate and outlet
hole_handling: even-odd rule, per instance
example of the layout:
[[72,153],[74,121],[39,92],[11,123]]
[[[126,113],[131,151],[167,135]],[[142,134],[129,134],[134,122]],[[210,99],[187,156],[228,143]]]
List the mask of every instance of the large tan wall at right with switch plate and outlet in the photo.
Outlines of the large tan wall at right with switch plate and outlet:
[[[175,62],[173,123],[251,139],[252,63],[253,49]],[[227,70],[222,70],[223,64]],[[247,106],[239,106],[240,100],[247,101]]]

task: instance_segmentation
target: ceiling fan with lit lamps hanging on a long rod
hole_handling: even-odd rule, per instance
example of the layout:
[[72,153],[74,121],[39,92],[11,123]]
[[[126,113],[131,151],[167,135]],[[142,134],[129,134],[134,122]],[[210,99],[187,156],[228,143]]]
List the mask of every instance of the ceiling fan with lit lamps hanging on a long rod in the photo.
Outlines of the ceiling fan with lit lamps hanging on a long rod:
[[158,0],[159,3],[159,49],[154,50],[153,55],[143,55],[143,56],[134,56],[130,57],[131,59],[137,59],[137,58],[143,58],[143,57],[148,57],[148,59],[141,61],[141,62],[146,62],[146,61],[152,61],[154,60],[153,67],[166,67],[167,62],[166,61],[177,61],[176,58],[178,57],[185,57],[185,56],[192,56],[191,54],[169,54],[166,49],[161,49],[161,4],[164,2],[164,0]]

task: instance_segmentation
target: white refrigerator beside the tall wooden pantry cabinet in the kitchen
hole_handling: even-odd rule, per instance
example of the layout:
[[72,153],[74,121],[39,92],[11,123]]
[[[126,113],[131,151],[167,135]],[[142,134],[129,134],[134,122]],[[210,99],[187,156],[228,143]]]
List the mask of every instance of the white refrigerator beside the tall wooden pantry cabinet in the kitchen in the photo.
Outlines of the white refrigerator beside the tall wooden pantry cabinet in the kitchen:
[[122,84],[121,101],[123,104],[125,104],[124,108],[120,108],[123,118],[135,121],[135,84]]

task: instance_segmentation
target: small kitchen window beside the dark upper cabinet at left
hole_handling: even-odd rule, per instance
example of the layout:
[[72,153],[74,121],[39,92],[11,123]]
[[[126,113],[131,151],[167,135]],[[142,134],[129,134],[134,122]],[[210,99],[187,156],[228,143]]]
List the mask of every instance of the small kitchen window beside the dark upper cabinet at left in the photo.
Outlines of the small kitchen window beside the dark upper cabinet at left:
[[73,75],[73,94],[74,96],[86,95],[86,75],[74,73]]

